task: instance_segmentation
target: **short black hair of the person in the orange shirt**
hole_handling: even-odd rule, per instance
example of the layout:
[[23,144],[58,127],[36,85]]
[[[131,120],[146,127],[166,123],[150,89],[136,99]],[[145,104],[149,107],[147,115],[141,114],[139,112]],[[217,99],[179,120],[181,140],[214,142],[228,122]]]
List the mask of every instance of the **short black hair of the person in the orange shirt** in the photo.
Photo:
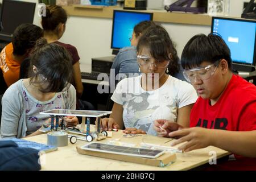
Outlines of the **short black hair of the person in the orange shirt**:
[[20,24],[13,33],[13,54],[18,56],[24,55],[28,49],[35,46],[36,40],[42,38],[42,36],[42,28],[29,23]]

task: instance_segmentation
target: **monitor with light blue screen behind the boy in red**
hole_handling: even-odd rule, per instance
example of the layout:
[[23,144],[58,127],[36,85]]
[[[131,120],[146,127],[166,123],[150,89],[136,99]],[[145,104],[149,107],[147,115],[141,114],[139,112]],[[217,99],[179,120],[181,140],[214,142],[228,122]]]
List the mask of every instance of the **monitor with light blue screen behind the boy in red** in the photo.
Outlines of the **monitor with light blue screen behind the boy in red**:
[[241,18],[212,17],[212,32],[228,45],[233,69],[251,72],[256,64],[256,21]]

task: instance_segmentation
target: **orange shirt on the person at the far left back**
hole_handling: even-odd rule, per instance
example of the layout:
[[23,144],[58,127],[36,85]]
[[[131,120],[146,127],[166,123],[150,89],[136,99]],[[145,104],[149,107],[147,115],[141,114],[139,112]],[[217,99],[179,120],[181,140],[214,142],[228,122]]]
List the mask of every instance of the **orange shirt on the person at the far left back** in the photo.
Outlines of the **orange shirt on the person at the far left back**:
[[0,53],[0,67],[7,86],[19,80],[20,63],[13,60],[13,44],[8,44]]

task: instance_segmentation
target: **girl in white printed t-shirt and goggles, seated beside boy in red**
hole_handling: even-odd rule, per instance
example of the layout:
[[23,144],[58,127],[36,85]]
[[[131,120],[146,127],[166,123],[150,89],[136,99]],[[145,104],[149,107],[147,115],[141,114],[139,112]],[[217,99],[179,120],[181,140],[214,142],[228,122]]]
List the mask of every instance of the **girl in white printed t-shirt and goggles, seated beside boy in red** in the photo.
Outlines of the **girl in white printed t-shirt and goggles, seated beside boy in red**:
[[125,126],[126,134],[156,135],[153,129],[156,119],[168,119],[188,127],[197,94],[188,82],[167,75],[168,65],[178,64],[168,32],[160,25],[148,28],[139,39],[137,55],[142,74],[118,83],[111,98],[112,114],[102,119],[102,129]]

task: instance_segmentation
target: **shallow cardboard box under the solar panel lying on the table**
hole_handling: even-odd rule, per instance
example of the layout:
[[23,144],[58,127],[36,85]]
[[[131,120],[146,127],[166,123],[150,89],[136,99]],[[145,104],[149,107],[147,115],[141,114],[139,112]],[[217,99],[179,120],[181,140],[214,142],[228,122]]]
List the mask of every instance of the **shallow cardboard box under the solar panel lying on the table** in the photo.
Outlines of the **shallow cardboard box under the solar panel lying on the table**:
[[145,165],[156,166],[156,167],[165,167],[168,164],[175,162],[176,160],[176,154],[171,154],[171,153],[163,154],[156,159],[150,159],[150,158],[140,158],[140,157],[129,156],[129,155],[118,155],[118,154],[109,154],[105,152],[82,150],[81,146],[76,147],[76,150],[77,152],[79,152],[79,154],[97,156],[105,159],[121,160],[121,161],[131,162],[131,163],[145,164]]

